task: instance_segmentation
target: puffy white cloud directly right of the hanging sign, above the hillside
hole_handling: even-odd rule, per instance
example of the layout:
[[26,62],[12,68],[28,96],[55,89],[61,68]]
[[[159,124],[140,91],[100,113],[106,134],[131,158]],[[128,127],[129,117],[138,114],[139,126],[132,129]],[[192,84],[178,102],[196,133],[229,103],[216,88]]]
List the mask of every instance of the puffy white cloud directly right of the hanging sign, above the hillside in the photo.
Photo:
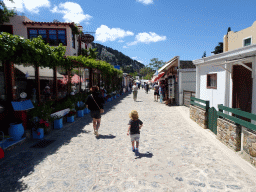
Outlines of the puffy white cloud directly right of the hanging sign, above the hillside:
[[115,41],[116,39],[124,38],[126,36],[133,36],[134,33],[131,31],[125,31],[120,28],[110,29],[106,25],[101,25],[96,30],[96,41],[106,42]]

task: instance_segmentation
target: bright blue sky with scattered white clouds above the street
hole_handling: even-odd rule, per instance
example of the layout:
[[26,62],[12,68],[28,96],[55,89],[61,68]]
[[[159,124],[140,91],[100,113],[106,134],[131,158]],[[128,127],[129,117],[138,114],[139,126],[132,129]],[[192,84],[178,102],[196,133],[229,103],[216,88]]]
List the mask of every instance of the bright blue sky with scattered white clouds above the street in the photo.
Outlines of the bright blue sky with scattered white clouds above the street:
[[228,27],[240,31],[256,20],[253,0],[4,0],[33,21],[75,22],[96,32],[95,43],[148,65],[210,56]]

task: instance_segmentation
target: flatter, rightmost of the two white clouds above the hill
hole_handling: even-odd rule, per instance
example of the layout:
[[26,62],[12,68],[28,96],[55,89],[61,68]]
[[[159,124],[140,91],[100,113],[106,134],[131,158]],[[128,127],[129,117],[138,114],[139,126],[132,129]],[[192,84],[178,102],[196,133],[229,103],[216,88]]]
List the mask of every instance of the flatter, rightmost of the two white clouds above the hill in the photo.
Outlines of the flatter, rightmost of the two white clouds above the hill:
[[156,33],[149,32],[149,33],[139,33],[135,37],[135,41],[127,43],[128,46],[136,45],[137,43],[146,43],[149,44],[151,42],[158,42],[166,40],[166,36],[159,36]]

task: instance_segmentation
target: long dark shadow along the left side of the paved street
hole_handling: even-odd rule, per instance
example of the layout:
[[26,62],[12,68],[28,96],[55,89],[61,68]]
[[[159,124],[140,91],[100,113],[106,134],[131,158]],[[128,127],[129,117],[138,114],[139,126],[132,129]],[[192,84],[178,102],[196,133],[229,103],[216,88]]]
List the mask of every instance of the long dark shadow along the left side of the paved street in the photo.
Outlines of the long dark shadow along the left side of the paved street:
[[[105,104],[105,113],[115,109],[131,92],[121,95],[121,97]],[[103,114],[104,115],[104,114]],[[80,134],[88,134],[91,130],[85,130],[84,126],[92,122],[90,114],[84,117],[75,118],[75,122],[66,123],[62,129],[52,130],[45,139],[55,140],[45,148],[30,148],[37,143],[37,140],[27,139],[25,143],[16,146],[14,149],[5,151],[5,157],[0,159],[0,191],[22,191],[28,189],[28,185],[22,181],[22,177],[27,177],[35,171],[35,167],[45,158],[53,155],[64,145],[68,145],[72,138],[81,137]],[[94,135],[92,135],[94,137]],[[114,139],[113,135],[101,135],[100,139]],[[28,189],[29,190],[29,189]]]

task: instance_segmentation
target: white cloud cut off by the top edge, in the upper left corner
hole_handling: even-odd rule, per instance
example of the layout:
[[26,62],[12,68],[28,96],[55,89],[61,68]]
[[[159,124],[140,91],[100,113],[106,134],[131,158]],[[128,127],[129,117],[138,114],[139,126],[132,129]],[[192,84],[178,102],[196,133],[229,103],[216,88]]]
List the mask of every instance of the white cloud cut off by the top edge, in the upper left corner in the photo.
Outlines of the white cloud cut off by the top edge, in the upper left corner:
[[24,8],[26,8],[28,11],[33,13],[39,13],[40,7],[50,7],[50,1],[49,0],[13,0],[13,3],[9,0],[4,0],[5,5],[8,8],[16,8],[17,11],[24,11]]

